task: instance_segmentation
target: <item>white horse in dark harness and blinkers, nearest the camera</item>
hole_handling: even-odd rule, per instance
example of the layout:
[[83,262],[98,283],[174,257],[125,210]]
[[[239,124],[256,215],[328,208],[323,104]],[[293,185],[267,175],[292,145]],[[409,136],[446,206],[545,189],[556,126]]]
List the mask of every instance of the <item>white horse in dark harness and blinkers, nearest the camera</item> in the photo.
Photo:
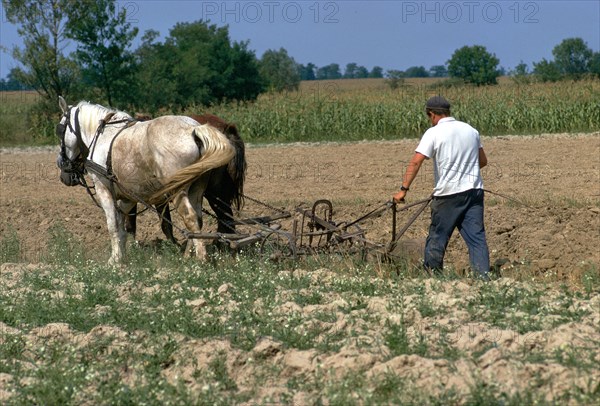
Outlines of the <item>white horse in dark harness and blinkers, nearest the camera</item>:
[[[109,263],[123,260],[125,216],[138,201],[160,204],[172,199],[187,231],[200,231],[210,172],[235,155],[223,133],[185,116],[138,122],[127,113],[88,102],[67,106],[60,97],[59,106],[60,178],[67,186],[87,187],[84,174],[89,174],[94,182],[111,239]],[[185,252],[206,256],[200,239],[189,239]]]

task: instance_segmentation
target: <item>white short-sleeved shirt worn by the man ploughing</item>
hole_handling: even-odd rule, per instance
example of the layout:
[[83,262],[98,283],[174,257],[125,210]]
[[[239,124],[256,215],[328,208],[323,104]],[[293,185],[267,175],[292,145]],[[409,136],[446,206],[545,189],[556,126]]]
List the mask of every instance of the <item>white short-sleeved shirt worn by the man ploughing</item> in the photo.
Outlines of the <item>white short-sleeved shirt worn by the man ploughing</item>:
[[479,148],[479,132],[454,117],[440,119],[423,134],[416,152],[434,160],[434,196],[483,189]]

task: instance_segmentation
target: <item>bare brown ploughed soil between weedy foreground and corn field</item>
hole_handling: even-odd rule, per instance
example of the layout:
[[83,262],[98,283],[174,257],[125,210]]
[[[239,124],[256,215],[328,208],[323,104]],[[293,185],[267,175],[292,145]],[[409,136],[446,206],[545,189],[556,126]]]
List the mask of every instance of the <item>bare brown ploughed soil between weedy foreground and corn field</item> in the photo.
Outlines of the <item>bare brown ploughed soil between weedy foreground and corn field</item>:
[[[388,200],[399,186],[416,140],[352,144],[286,145],[248,148],[246,193],[287,210],[315,199],[330,199],[334,220],[352,220]],[[520,203],[488,194],[486,227],[492,262],[526,265],[532,271],[577,278],[600,263],[600,134],[484,139],[489,166],[486,189]],[[43,253],[48,228],[57,221],[90,248],[107,255],[108,235],[101,209],[83,188],[58,179],[54,149],[2,150],[0,155],[0,234],[16,230],[26,262]],[[408,202],[431,190],[426,163],[411,187]],[[522,204],[521,204],[522,203]],[[248,212],[269,210],[247,204]],[[422,240],[428,211],[406,237]],[[402,224],[403,218],[400,218]],[[205,226],[210,229],[210,219]],[[369,239],[386,242],[391,221],[384,216],[362,225]],[[137,239],[164,238],[156,215],[140,216]],[[466,248],[458,233],[446,264],[462,269]],[[508,262],[506,262],[508,261]]]

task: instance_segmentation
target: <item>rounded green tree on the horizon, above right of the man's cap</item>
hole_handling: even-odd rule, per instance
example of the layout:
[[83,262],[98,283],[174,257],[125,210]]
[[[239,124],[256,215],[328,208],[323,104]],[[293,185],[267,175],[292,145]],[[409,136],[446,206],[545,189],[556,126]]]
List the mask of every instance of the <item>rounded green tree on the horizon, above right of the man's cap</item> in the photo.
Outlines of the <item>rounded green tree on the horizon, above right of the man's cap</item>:
[[448,60],[448,74],[477,86],[495,85],[499,62],[484,46],[464,46],[454,51]]

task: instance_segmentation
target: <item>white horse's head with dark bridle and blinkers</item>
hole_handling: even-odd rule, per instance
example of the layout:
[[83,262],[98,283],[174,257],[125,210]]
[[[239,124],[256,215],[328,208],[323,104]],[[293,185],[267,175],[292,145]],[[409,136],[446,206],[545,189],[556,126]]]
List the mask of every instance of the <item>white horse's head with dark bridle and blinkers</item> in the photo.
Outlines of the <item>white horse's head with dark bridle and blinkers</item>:
[[79,125],[79,107],[67,106],[67,102],[59,96],[58,104],[63,112],[56,126],[56,135],[60,140],[60,152],[56,165],[60,169],[60,180],[67,186],[82,184],[85,173],[85,160],[89,153],[85,145]]

